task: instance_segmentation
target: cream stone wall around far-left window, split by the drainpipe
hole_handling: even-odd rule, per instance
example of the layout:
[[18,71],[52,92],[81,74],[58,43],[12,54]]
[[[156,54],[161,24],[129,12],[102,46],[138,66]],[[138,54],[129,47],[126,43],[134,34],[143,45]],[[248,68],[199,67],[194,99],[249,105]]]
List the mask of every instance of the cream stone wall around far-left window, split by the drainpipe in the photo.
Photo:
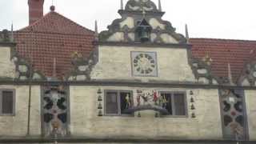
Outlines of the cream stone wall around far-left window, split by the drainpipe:
[[[26,136],[28,120],[29,86],[0,86],[0,89],[15,90],[15,115],[0,116],[0,138],[9,136]],[[41,134],[40,86],[32,86],[30,134]]]

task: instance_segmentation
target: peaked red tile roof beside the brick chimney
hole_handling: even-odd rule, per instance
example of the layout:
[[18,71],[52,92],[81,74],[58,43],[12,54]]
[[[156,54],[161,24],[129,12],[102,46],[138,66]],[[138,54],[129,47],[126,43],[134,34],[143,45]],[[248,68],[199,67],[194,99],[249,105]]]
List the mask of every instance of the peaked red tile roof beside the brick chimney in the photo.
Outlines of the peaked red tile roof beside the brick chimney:
[[94,49],[94,32],[79,26],[54,11],[34,24],[14,33],[18,53],[33,62],[34,68],[47,77],[53,74],[56,58],[57,76],[71,68],[71,54],[88,56]]

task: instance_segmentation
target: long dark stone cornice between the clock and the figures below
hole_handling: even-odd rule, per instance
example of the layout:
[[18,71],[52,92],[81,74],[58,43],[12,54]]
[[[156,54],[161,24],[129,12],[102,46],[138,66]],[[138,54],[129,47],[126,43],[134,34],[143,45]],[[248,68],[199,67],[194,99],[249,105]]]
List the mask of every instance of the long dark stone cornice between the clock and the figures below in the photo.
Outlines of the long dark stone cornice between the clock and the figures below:
[[189,89],[242,89],[256,90],[256,86],[226,86],[226,85],[206,85],[196,82],[166,82],[150,81],[141,82],[139,80],[86,80],[86,81],[18,81],[2,80],[0,85],[67,85],[67,86],[130,86],[148,88],[189,88]]

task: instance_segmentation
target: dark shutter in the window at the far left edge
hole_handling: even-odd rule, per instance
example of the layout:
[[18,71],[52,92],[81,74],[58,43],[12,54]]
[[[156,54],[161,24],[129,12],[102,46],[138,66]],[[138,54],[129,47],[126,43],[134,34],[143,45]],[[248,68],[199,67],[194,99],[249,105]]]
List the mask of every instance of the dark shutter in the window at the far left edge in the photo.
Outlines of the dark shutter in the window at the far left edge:
[[14,92],[2,91],[2,114],[14,113]]

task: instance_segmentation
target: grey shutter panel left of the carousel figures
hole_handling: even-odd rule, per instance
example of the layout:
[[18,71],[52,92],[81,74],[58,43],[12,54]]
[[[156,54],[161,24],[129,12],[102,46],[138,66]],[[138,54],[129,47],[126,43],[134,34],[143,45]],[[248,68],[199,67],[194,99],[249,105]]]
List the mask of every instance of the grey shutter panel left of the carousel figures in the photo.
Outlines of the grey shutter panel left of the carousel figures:
[[118,93],[106,93],[106,114],[118,114]]

